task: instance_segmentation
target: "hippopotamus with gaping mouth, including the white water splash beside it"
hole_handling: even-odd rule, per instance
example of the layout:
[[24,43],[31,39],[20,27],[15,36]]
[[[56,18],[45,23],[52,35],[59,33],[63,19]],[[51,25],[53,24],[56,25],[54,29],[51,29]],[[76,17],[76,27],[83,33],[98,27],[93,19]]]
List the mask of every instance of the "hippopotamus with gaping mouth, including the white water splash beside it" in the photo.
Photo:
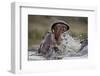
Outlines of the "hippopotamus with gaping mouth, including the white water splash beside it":
[[68,33],[70,25],[65,21],[55,21],[40,43],[38,53],[46,59],[62,59],[70,52],[76,54],[87,46],[87,41],[75,41]]

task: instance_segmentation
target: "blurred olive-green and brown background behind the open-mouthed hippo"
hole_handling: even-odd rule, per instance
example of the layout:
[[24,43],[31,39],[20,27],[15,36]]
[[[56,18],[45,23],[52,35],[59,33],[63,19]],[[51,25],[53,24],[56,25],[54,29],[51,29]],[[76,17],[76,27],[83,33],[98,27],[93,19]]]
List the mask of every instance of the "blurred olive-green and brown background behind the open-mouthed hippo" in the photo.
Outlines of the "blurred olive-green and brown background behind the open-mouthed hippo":
[[28,48],[39,47],[43,36],[51,31],[54,21],[62,20],[70,25],[69,34],[75,39],[88,38],[88,18],[69,16],[28,15]]

